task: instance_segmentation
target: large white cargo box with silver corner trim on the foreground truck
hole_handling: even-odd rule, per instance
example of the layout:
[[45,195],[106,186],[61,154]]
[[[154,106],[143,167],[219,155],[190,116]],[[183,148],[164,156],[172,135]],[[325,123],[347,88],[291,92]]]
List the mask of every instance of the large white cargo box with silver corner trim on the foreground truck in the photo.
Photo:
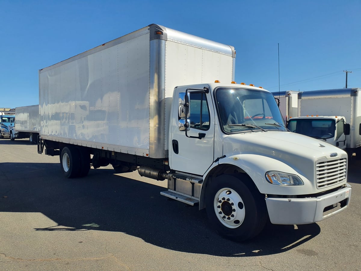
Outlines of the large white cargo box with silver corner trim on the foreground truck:
[[174,87],[234,81],[232,46],[149,25],[39,70],[40,137],[168,157]]

